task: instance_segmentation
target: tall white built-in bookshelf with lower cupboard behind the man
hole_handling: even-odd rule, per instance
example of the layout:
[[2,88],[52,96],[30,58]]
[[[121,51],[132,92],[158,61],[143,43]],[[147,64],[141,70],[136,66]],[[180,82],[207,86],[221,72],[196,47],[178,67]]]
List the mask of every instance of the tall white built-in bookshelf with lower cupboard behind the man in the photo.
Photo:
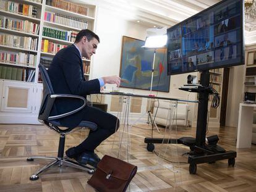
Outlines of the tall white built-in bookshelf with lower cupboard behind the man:
[[[1,78],[0,73],[0,123],[33,123],[37,124],[38,120],[38,112],[41,104],[41,96],[43,91],[43,86],[38,81],[40,77],[40,72],[38,69],[38,65],[40,64],[40,58],[48,59],[51,61],[55,54],[51,52],[43,52],[41,51],[41,41],[48,40],[53,43],[58,43],[64,46],[69,46],[72,44],[70,41],[59,40],[57,38],[52,38],[48,36],[43,36],[43,27],[46,28],[54,28],[56,30],[62,31],[80,31],[80,28],[70,27],[69,25],[63,25],[60,23],[49,22],[45,20],[45,11],[53,12],[56,14],[64,15],[65,17],[72,17],[75,19],[80,19],[84,23],[88,23],[88,29],[94,31],[95,30],[95,14],[96,14],[96,6],[92,4],[93,1],[85,0],[85,1],[72,1],[72,3],[78,4],[80,6],[88,7],[88,15],[77,14],[75,12],[70,12],[68,10],[59,9],[57,7],[52,7],[46,5],[46,0],[42,0],[42,2],[35,2],[32,0],[7,0],[11,2],[17,2],[22,4],[28,4],[30,6],[37,7],[37,15],[36,18],[28,17],[27,15],[16,14],[14,12],[9,12],[7,10],[0,10],[0,16],[6,17],[7,19],[13,20],[28,20],[29,22],[36,23],[40,25],[39,35],[33,33],[27,33],[19,30],[10,30],[5,28],[5,26],[0,27],[0,33],[9,34],[13,36],[24,36],[31,37],[32,39],[37,39],[37,49],[23,49],[18,47],[6,46],[0,44],[0,52],[6,53],[19,53],[22,52],[24,54],[33,54],[36,56],[36,64],[35,66],[14,63],[11,60],[9,61],[0,61],[0,66],[4,66],[4,68],[9,70],[9,68],[22,69],[22,80],[10,80],[6,78]],[[71,2],[66,0],[67,2]],[[88,2],[88,3],[87,3]],[[78,26],[80,27],[80,25]],[[92,61],[89,59],[82,59],[83,63],[86,65],[92,65]],[[92,69],[90,67],[90,69]],[[27,75],[33,71],[35,73],[35,78],[32,82],[24,81],[28,78]],[[90,78],[90,72],[84,73],[85,78],[88,80]],[[23,99],[23,100],[22,100]],[[19,101],[20,106],[17,107],[15,104]],[[12,106],[14,104],[14,106]],[[10,106],[11,105],[11,106]],[[23,105],[23,106],[22,106]]]

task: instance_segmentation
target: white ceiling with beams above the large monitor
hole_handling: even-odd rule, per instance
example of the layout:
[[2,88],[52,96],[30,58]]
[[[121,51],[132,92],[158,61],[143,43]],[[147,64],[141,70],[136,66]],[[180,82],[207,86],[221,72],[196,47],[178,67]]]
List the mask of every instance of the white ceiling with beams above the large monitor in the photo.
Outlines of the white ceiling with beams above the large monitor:
[[[221,0],[98,0],[103,6],[148,28],[171,27]],[[245,36],[255,35],[256,21],[245,23]],[[256,38],[255,38],[256,41]],[[246,43],[246,40],[245,40]]]

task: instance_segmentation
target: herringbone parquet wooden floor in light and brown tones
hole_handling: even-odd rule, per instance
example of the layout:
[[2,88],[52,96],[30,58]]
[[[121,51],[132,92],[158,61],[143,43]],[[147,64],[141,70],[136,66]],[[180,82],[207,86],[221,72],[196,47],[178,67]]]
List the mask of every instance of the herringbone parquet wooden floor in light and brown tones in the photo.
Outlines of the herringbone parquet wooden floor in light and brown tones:
[[[161,137],[155,130],[153,135]],[[117,133],[116,133],[117,134]],[[236,164],[228,167],[228,161],[215,164],[198,164],[197,174],[189,174],[187,156],[189,149],[179,146],[180,168],[178,173],[156,164],[156,154],[162,146],[156,144],[156,154],[148,152],[145,136],[151,136],[150,127],[132,127],[130,131],[129,162],[138,166],[138,172],[130,184],[130,191],[256,191],[256,146],[236,149],[236,128],[209,128],[208,135],[218,134],[219,144],[225,149],[237,151]],[[77,131],[67,136],[66,149],[85,138],[87,131]],[[195,128],[178,128],[177,136],[194,136]],[[0,191],[95,191],[87,185],[87,172],[71,167],[53,167],[30,181],[30,175],[46,164],[46,161],[27,162],[28,156],[56,156],[59,135],[42,125],[0,125]],[[114,136],[96,148],[98,156],[116,155],[118,148]],[[175,159],[169,152],[169,159]],[[176,161],[176,160],[174,160]],[[167,161],[163,161],[167,163]],[[177,166],[177,164],[175,164]],[[127,190],[129,191],[129,190]]]

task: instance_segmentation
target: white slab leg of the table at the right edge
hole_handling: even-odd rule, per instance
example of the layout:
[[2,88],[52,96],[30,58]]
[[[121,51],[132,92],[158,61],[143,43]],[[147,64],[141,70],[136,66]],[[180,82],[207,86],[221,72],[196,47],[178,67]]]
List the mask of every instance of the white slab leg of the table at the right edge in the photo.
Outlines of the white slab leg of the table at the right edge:
[[240,106],[237,127],[236,148],[250,148],[252,146],[252,122],[254,118],[254,107]]

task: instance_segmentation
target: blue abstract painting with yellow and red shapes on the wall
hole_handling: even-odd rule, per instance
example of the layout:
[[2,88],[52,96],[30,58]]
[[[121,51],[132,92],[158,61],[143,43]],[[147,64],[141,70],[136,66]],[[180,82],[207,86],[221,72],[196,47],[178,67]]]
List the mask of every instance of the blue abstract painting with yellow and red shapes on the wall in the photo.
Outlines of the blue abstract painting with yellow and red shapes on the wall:
[[[151,72],[155,49],[144,49],[145,41],[122,37],[121,87],[150,90]],[[167,49],[156,49],[153,73],[153,91],[169,92],[170,77],[167,76]]]

